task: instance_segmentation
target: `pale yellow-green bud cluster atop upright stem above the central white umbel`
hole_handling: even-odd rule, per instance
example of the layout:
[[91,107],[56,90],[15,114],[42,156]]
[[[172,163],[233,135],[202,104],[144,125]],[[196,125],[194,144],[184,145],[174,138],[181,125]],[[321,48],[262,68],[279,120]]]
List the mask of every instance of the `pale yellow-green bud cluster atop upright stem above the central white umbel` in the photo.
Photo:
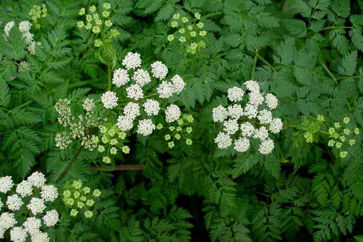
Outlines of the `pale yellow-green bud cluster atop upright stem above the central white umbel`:
[[[86,14],[86,9],[81,8],[79,9],[79,16],[86,16],[86,21],[78,21],[77,27],[82,29],[85,28],[87,30],[91,30],[95,34],[99,34],[102,31],[108,30],[113,23],[110,20],[110,3],[103,4],[103,11],[102,13],[97,13],[97,8],[95,5],[90,6],[87,10],[88,14]],[[120,33],[116,29],[110,29],[109,33],[107,33],[108,38],[117,37]],[[97,38],[94,42],[96,47],[102,45],[102,40]]]

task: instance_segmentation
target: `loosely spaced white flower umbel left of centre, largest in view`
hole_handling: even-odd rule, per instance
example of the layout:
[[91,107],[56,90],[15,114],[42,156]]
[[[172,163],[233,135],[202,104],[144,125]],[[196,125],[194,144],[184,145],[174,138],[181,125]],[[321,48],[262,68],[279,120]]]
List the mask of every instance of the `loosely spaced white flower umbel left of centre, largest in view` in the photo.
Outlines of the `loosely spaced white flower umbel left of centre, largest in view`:
[[[114,70],[114,76],[112,83],[117,87],[122,87],[130,82],[129,70],[133,69],[133,75],[131,77],[133,84],[126,88],[127,97],[135,99],[135,101],[141,102],[129,102],[123,107],[123,115],[118,116],[117,126],[121,131],[129,131],[134,127],[134,121],[140,115],[140,107],[144,108],[144,111],[148,116],[158,115],[160,111],[160,103],[154,99],[147,99],[144,96],[143,86],[151,82],[150,74],[147,70],[141,69],[140,54],[129,52],[122,60],[122,65],[125,69],[118,68]],[[138,69],[136,69],[138,68]],[[156,61],[151,64],[152,77],[163,80],[167,77],[168,68],[160,61]],[[174,75],[170,81],[162,81],[156,88],[159,94],[159,98],[169,98],[174,93],[180,93],[184,90],[185,83],[179,75]],[[151,94],[149,96],[152,96]],[[146,100],[145,100],[146,99]],[[101,101],[105,108],[113,108],[117,106],[118,97],[116,93],[112,91],[106,91],[101,97]],[[180,108],[175,104],[171,104],[165,110],[166,122],[174,122],[180,118]],[[151,119],[138,120],[138,134],[150,135],[155,130],[155,124]]]

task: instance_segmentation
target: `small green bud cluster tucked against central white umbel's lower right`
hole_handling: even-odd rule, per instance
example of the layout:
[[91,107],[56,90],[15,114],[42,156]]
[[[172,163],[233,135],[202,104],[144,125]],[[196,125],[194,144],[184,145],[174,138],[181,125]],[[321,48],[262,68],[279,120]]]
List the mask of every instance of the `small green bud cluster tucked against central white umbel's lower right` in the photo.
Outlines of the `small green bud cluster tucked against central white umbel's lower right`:
[[[179,114],[180,115],[180,114]],[[164,136],[165,140],[168,141],[168,147],[174,147],[174,141],[180,140],[180,138],[185,139],[185,143],[187,145],[191,145],[193,142],[188,136],[191,136],[191,132],[193,131],[191,124],[194,119],[191,114],[182,114],[181,118],[178,119],[177,125],[170,125],[169,127],[164,127],[161,123],[159,123],[156,128],[158,130],[166,129],[170,132]]]

